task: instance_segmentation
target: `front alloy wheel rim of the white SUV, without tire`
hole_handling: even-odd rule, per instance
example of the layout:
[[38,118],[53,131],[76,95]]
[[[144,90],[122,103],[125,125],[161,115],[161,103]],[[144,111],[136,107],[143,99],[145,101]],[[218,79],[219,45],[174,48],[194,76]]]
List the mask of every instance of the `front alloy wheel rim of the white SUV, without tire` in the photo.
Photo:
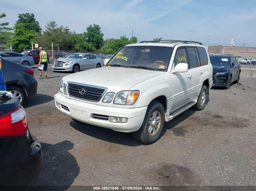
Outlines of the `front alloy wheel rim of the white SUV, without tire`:
[[154,111],[148,120],[148,133],[149,135],[155,135],[161,125],[161,114],[159,111]]

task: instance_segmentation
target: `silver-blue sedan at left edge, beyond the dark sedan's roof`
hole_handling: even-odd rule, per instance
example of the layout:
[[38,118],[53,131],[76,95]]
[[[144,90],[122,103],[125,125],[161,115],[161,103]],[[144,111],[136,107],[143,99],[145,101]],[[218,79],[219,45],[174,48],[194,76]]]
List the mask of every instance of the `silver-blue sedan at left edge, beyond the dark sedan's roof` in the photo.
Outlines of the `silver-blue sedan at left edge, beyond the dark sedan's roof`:
[[0,52],[0,58],[6,59],[11,62],[15,62],[17,64],[21,64],[21,65],[27,65],[27,66],[35,65],[33,57],[30,57],[30,56],[27,56],[24,54],[20,54],[20,53]]

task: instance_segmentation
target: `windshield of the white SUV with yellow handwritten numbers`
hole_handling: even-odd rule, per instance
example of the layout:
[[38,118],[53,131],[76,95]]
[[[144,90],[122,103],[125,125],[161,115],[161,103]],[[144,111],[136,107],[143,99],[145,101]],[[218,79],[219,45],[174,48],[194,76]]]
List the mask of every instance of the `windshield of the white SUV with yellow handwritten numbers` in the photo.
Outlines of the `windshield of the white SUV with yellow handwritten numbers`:
[[150,67],[167,71],[172,49],[165,46],[125,46],[115,53],[106,66],[115,64],[128,67],[143,66],[144,69]]

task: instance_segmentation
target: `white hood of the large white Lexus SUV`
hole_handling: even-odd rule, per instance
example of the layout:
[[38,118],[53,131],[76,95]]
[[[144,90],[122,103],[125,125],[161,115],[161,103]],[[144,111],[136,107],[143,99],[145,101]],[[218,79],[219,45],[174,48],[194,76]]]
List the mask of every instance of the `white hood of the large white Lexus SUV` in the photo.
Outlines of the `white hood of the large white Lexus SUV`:
[[130,90],[136,84],[164,72],[138,68],[101,67],[63,77],[63,82],[77,82],[108,88],[108,92]]

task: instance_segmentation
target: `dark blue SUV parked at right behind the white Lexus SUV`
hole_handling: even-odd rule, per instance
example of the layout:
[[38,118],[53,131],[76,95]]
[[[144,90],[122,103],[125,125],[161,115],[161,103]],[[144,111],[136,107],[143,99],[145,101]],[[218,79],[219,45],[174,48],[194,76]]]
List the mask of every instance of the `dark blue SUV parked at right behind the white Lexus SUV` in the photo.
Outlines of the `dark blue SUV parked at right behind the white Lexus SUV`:
[[213,85],[229,89],[231,83],[238,83],[241,66],[233,55],[210,55],[213,68]]

